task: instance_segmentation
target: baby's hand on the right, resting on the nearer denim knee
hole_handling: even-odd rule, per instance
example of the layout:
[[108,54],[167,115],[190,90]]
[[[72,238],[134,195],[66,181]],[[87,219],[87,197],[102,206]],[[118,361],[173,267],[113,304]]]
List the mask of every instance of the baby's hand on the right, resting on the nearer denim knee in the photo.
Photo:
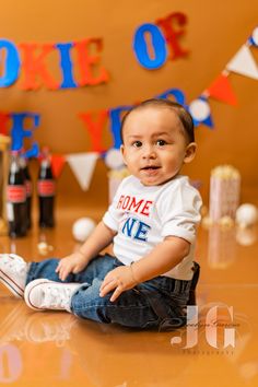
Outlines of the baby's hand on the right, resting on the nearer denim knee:
[[136,284],[137,281],[133,278],[131,267],[119,266],[106,274],[101,285],[99,296],[104,297],[107,293],[115,289],[115,292],[110,297],[110,302],[114,302],[122,292],[132,289]]

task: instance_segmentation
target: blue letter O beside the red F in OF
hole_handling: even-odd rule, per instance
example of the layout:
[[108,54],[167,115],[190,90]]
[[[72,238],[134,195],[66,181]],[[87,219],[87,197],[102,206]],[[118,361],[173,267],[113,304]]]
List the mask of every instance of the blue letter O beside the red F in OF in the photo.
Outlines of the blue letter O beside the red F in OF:
[[[154,58],[150,58],[150,54],[148,52],[148,43],[144,37],[145,33],[151,35]],[[167,57],[166,40],[161,30],[154,24],[143,24],[137,30],[133,49],[139,63],[151,70],[162,67]]]

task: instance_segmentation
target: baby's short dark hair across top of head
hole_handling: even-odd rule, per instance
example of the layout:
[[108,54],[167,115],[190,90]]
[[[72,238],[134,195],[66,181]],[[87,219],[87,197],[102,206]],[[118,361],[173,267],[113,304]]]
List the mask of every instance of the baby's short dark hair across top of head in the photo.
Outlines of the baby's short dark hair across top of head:
[[184,127],[184,133],[185,133],[187,140],[189,141],[189,143],[195,142],[195,126],[194,126],[194,121],[192,121],[190,113],[187,112],[187,109],[183,105],[180,105],[176,102],[173,102],[169,99],[159,99],[159,98],[143,101],[139,105],[133,106],[129,112],[126,113],[126,115],[122,117],[121,127],[120,127],[120,137],[121,137],[122,142],[124,142],[122,128],[125,126],[127,117],[132,112],[139,110],[139,109],[141,109],[143,107],[148,107],[148,106],[166,107],[166,108],[175,112],[177,114],[177,117],[179,118],[183,127]]

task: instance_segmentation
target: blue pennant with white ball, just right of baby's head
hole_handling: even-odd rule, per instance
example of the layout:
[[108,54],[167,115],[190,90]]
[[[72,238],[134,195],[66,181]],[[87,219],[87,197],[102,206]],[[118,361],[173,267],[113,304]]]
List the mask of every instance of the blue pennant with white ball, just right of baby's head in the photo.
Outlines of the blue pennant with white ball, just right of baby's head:
[[202,124],[207,127],[213,128],[210,105],[208,104],[208,99],[204,95],[201,95],[199,98],[192,101],[189,104],[188,109],[196,127]]

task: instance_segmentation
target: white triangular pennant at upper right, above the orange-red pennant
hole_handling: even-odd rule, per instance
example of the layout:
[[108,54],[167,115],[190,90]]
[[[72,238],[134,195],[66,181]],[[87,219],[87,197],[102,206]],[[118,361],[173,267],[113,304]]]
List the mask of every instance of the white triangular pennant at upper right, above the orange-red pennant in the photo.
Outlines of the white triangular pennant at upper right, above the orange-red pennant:
[[249,48],[244,45],[226,64],[226,69],[258,80],[258,67]]

